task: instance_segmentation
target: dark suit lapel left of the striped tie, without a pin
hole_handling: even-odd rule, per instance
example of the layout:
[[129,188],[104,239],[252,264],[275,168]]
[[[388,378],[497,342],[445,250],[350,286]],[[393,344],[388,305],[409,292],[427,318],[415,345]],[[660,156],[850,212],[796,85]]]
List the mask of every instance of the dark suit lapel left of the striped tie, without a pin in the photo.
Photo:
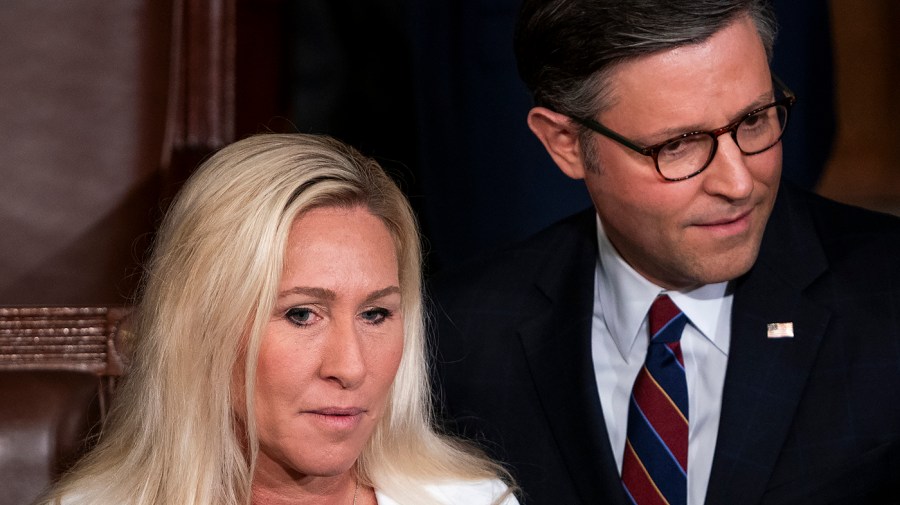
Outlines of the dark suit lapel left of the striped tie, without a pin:
[[546,310],[520,327],[519,336],[541,407],[584,503],[624,504],[606,433],[591,358],[594,213],[577,221],[582,229],[553,243],[536,286]]

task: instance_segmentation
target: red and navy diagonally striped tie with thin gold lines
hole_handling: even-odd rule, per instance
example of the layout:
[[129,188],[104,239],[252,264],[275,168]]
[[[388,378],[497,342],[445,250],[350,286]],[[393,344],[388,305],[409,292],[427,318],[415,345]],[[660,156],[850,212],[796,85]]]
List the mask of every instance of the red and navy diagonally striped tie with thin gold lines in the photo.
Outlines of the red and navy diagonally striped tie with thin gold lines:
[[666,295],[650,307],[650,345],[631,391],[622,460],[622,485],[637,505],[687,503],[688,396],[681,354],[686,323]]

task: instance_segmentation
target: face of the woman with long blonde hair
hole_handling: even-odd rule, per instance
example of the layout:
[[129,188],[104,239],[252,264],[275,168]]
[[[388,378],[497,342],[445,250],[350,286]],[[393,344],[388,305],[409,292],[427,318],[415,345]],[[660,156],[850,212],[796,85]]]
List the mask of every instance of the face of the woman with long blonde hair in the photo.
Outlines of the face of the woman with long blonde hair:
[[299,216],[260,345],[256,484],[350,469],[385,411],[402,350],[387,227],[363,207]]

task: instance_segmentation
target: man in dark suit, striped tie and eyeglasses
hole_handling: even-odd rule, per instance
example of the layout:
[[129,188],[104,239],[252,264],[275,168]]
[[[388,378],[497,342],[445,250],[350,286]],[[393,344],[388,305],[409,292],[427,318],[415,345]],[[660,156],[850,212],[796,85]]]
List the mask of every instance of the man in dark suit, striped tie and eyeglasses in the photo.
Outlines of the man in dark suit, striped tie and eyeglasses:
[[449,427],[525,504],[900,502],[900,220],[779,183],[774,31],[762,0],[525,1],[528,124],[594,207],[434,286]]

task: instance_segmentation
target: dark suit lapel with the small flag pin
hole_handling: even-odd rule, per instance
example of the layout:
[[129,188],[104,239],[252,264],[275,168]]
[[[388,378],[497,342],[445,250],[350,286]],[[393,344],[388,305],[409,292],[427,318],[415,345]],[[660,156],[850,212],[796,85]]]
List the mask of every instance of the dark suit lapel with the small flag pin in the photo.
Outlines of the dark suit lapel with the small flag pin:
[[[815,362],[829,312],[804,295],[826,270],[805,209],[782,190],[759,259],[735,283],[731,348],[706,503],[759,503]],[[768,338],[768,323],[793,338]]]

